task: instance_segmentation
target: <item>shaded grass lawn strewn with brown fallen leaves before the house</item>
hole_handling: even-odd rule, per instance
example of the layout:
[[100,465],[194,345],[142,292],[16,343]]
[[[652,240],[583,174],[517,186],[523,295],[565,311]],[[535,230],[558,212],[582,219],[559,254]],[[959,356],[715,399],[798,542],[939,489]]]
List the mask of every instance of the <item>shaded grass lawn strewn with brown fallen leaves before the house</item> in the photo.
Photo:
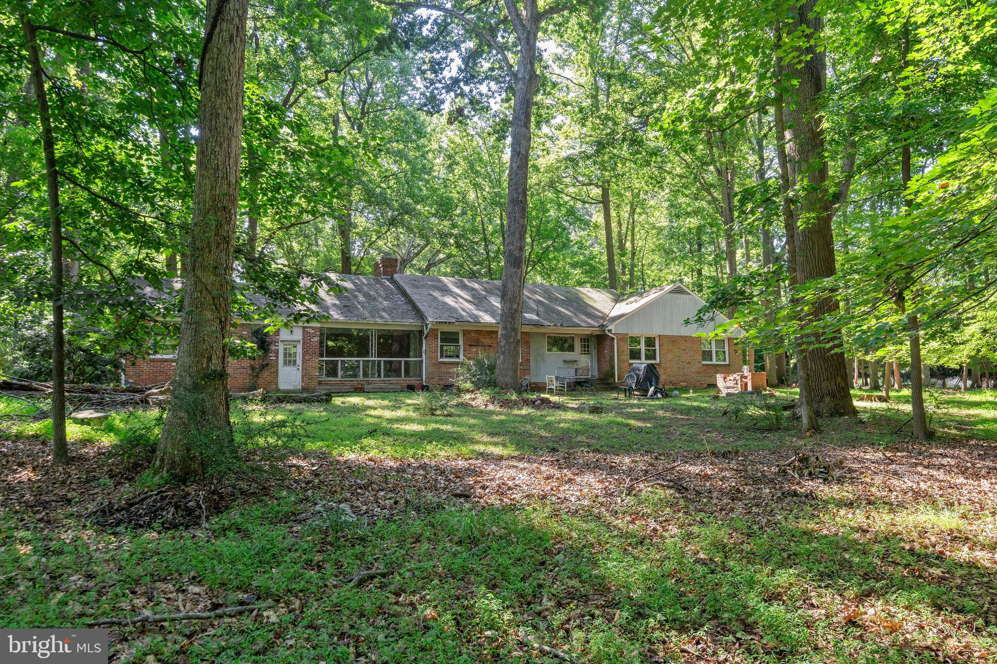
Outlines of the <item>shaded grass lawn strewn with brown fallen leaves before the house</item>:
[[806,438],[708,392],[449,416],[409,394],[270,406],[304,425],[288,472],[177,489],[179,528],[87,516],[143,495],[109,450],[150,413],[72,428],[66,471],[45,422],[11,425],[0,626],[272,601],[114,628],[113,661],[997,659],[997,394],[930,399],[928,444],[894,396]]

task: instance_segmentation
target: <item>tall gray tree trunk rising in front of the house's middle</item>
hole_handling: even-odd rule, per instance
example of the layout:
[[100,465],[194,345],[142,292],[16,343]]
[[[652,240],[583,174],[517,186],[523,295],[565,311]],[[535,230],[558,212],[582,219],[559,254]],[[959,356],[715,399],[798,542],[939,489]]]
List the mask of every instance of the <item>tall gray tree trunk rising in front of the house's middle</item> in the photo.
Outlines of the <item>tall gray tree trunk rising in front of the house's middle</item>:
[[[518,14],[513,0],[504,0],[519,42],[515,68],[508,155],[508,191],[505,201],[505,244],[501,275],[500,317],[496,383],[500,389],[519,388],[519,342],[522,327],[522,282],[526,249],[526,196],[529,179],[529,145],[532,141],[533,95],[536,93],[536,33],[540,16],[535,0],[523,2]],[[515,18],[513,18],[515,15]],[[612,228],[608,231],[611,233]],[[610,266],[609,274],[614,274]]]

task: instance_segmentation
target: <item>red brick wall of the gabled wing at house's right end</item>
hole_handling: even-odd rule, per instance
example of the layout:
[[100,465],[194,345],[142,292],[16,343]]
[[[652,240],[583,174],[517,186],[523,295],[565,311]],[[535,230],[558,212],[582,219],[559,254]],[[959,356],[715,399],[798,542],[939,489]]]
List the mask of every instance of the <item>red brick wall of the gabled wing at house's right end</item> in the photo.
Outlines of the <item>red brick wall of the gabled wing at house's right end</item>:
[[[620,380],[630,369],[630,335],[616,334],[617,361]],[[717,384],[718,373],[735,373],[741,370],[742,350],[737,339],[727,339],[728,361],[724,364],[703,363],[703,339],[699,336],[658,336],[658,361],[655,366],[665,387],[692,387],[701,389]],[[612,338],[610,338],[610,343]],[[611,346],[610,346],[611,347]],[[601,361],[601,360],[600,360]],[[609,361],[612,361],[610,354]]]

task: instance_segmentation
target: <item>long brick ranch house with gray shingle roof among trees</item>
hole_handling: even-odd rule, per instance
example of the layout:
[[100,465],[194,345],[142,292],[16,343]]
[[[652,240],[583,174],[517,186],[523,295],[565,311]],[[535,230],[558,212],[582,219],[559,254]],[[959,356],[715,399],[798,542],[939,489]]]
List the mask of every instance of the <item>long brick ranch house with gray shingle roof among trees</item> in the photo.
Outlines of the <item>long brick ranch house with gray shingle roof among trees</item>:
[[[267,336],[258,324],[239,323],[237,333],[267,349],[228,362],[232,391],[442,387],[463,360],[495,354],[500,282],[395,274],[396,266],[386,257],[373,277],[335,275],[343,292],[325,292],[304,325]],[[519,375],[543,389],[545,376],[587,360],[592,375],[616,382],[631,364],[653,362],[668,388],[714,386],[718,373],[745,362],[735,337],[704,340],[693,334],[713,332],[713,324],[684,323],[704,304],[679,284],[629,296],[526,284]],[[157,384],[174,367],[175,355],[131,357],[125,377]]]

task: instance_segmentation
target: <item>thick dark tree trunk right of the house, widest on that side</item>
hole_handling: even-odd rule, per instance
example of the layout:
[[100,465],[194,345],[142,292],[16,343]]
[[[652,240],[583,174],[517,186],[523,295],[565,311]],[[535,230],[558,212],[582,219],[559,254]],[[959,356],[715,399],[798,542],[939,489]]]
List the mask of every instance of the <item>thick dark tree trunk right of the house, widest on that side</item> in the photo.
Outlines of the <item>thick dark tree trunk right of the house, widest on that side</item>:
[[[820,40],[822,18],[817,0],[805,0],[793,14],[790,30]],[[787,155],[796,170],[801,192],[801,219],[797,224],[797,280],[808,284],[834,275],[834,241],[831,233],[831,198],[825,191],[828,162],[825,158],[824,116],[819,97],[827,83],[825,52],[812,41],[801,64],[789,74],[799,81],[796,104],[786,117]],[[837,301],[830,295],[816,301],[802,316],[820,322],[836,315]],[[807,393],[818,416],[858,415],[848,390],[847,369],[839,336],[834,333],[807,343]]]

